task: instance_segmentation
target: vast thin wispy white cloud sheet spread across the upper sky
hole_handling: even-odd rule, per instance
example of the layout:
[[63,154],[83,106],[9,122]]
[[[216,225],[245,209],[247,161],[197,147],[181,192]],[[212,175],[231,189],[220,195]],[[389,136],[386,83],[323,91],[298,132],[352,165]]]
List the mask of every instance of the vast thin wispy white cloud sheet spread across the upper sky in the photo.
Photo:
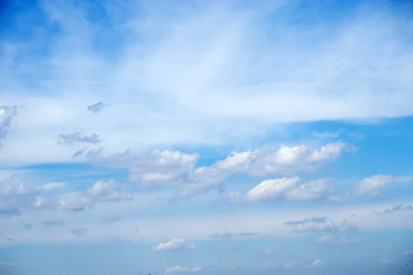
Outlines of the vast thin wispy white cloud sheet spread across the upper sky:
[[[284,122],[412,114],[407,102],[413,100],[413,56],[404,39],[410,22],[390,9],[360,12],[346,24],[294,28],[289,19],[294,1],[269,10],[202,1],[184,14],[182,5],[168,5],[178,17],[160,16],[157,3],[140,12],[125,5],[111,5],[114,10],[105,14],[126,8],[127,22],[111,17],[115,25],[103,32],[79,15],[87,10],[45,3],[45,16],[63,30],[46,39],[50,30],[36,26],[44,27],[45,36],[30,47],[36,51],[47,41],[47,55],[23,54],[27,45],[19,43],[1,45],[2,102],[22,106],[12,120],[19,130],[3,143],[1,163],[68,161],[74,152],[53,137],[86,129],[99,133],[102,146],[114,153],[249,144]],[[262,24],[268,14],[276,15],[277,28]],[[372,28],[381,32],[369,32]],[[107,58],[94,50],[92,37],[112,32],[126,42],[116,47],[103,41],[102,47],[115,53]],[[140,39],[133,39],[137,34]],[[17,66],[21,63],[25,66]],[[110,108],[92,113],[101,102]],[[288,163],[303,152],[294,150],[283,151],[279,161]],[[334,155],[325,148],[310,159]]]

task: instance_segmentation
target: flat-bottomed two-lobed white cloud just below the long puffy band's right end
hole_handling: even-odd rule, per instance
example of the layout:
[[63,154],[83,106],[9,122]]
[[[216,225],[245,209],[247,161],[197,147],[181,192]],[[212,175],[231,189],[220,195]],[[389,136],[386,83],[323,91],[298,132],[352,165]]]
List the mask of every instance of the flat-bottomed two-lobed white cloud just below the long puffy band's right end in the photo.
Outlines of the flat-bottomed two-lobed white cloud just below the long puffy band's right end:
[[320,199],[328,192],[326,188],[328,179],[316,179],[296,186],[299,181],[301,179],[297,176],[266,179],[249,190],[245,199],[246,201],[311,200]]

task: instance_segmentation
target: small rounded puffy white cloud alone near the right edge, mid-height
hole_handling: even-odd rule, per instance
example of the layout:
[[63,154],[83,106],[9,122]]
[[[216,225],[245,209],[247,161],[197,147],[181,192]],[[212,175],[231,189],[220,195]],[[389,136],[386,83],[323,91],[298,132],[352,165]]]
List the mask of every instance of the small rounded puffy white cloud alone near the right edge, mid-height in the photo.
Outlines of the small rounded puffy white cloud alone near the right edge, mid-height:
[[387,184],[392,184],[394,177],[389,175],[374,175],[371,177],[366,177],[357,184],[354,195],[361,196],[367,195],[370,197],[377,197],[384,186]]

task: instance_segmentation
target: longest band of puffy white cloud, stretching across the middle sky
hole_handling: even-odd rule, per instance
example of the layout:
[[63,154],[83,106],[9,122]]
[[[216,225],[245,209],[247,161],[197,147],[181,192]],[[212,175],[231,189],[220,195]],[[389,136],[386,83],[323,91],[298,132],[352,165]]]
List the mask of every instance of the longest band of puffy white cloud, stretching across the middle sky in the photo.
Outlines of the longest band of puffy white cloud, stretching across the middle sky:
[[[343,142],[326,144],[319,148],[304,145],[261,148],[232,153],[211,166],[198,168],[195,168],[200,159],[198,153],[187,154],[170,150],[154,151],[151,155],[141,156],[130,151],[113,155],[103,155],[103,151],[98,151],[92,153],[90,160],[98,166],[128,168],[131,181],[142,186],[168,184],[178,188],[177,197],[191,197],[213,188],[222,190],[222,181],[232,175],[288,175],[297,171],[314,170],[326,162],[334,161],[350,148],[352,147],[349,144]],[[324,180],[319,179],[300,186],[290,192],[289,197],[317,199],[325,191]]]

